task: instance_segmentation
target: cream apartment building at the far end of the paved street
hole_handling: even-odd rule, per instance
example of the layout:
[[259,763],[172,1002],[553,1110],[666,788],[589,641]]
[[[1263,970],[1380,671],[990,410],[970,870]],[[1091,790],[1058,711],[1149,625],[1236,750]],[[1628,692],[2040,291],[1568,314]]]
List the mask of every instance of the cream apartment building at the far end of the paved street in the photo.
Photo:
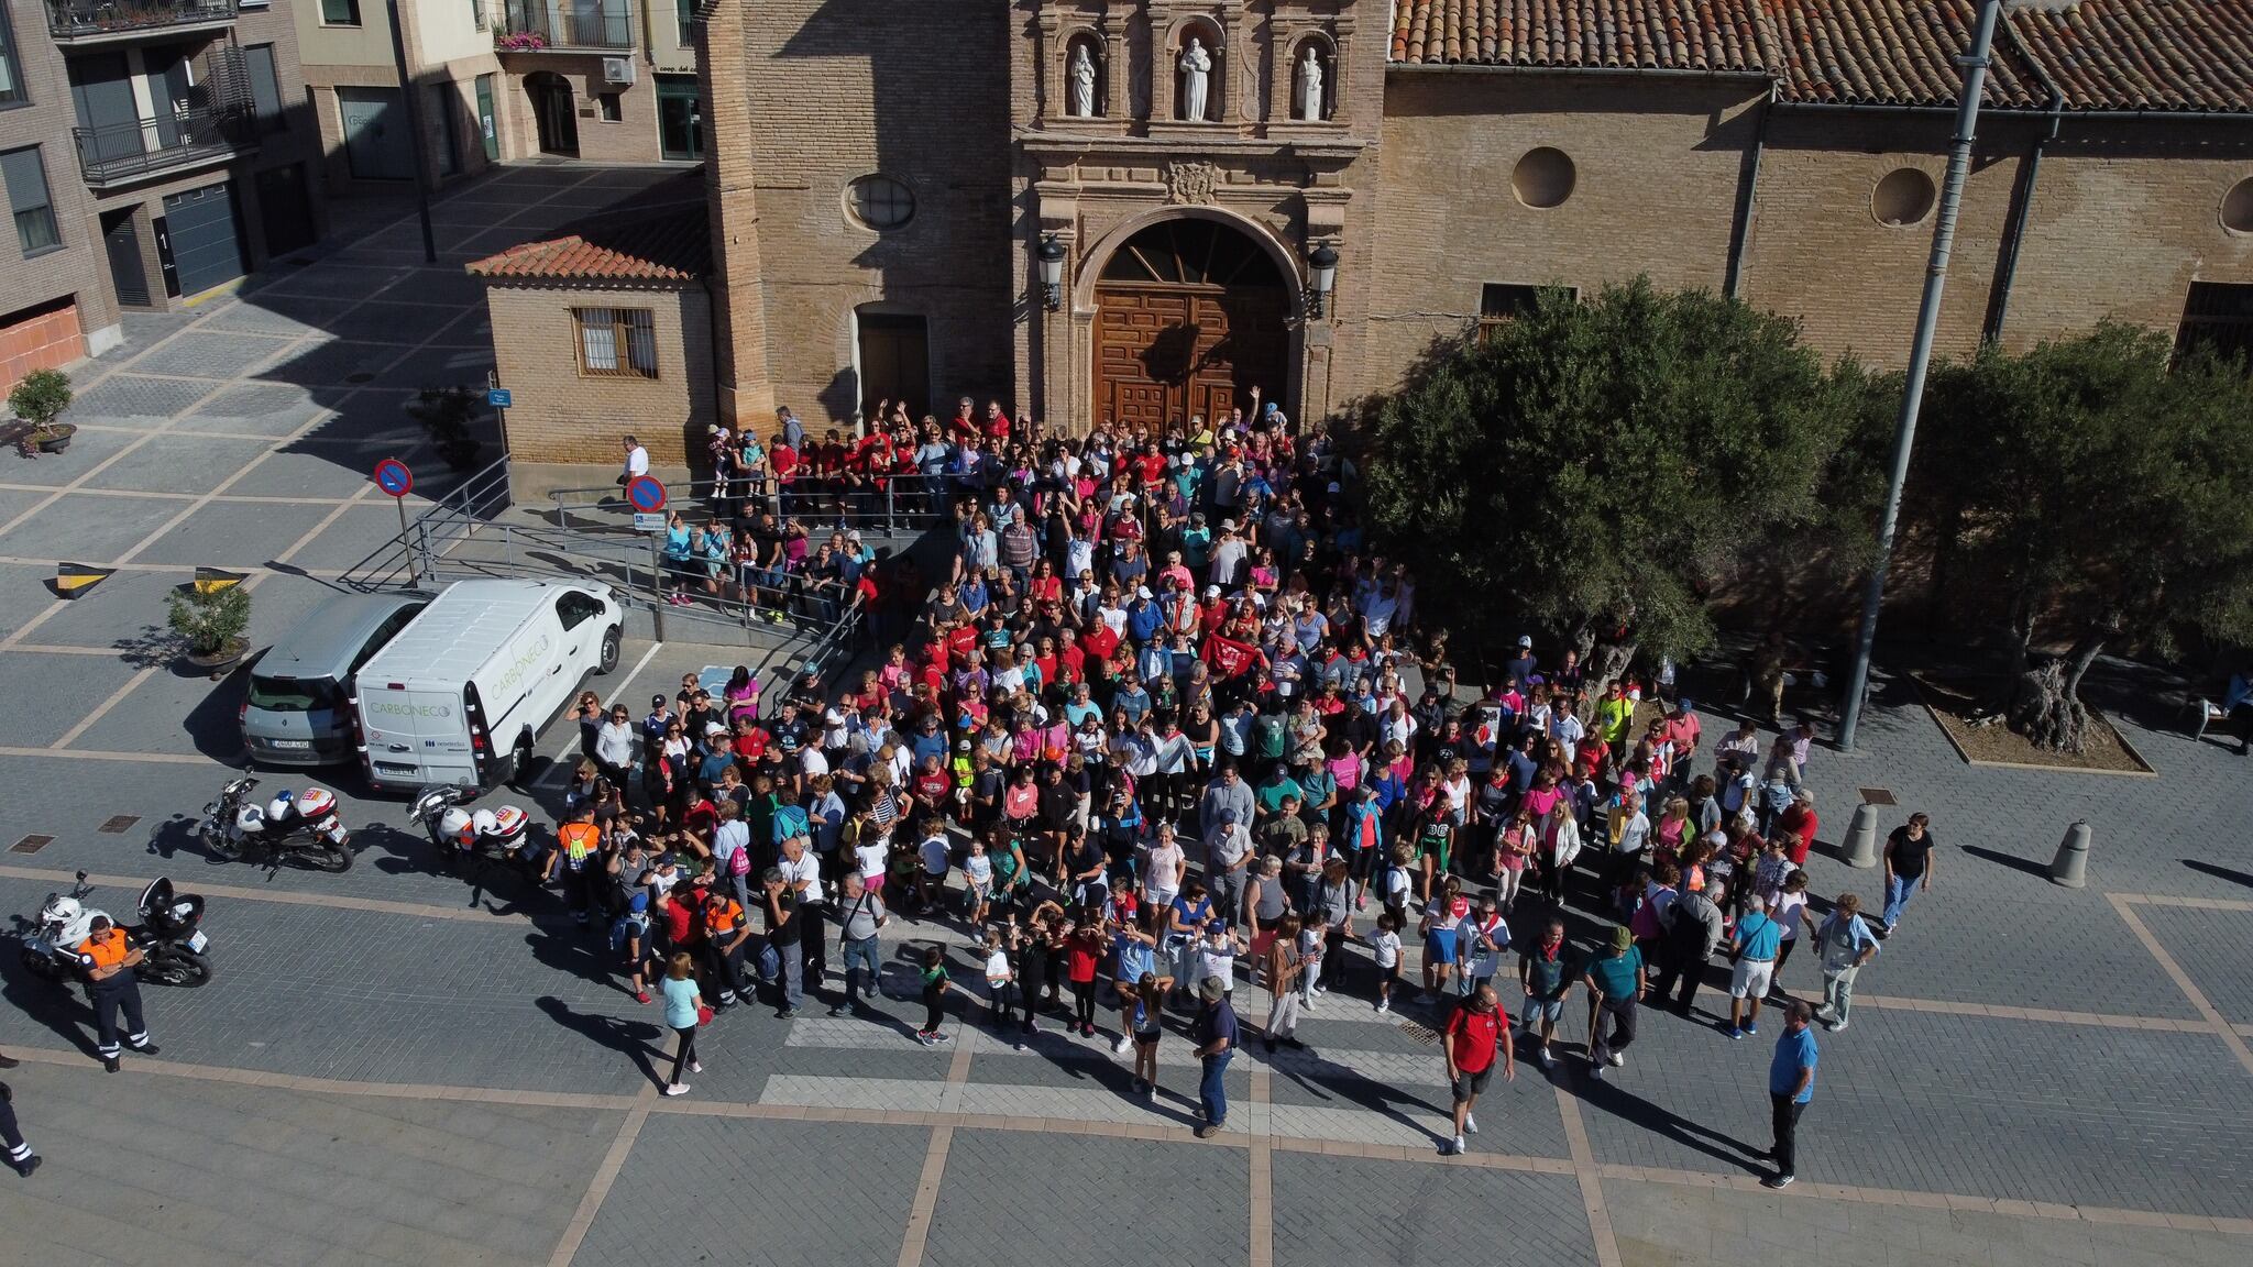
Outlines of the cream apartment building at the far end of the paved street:
[[[379,0],[295,0],[333,192],[415,176]],[[399,0],[426,178],[532,156],[694,162],[703,153],[687,0]]]

